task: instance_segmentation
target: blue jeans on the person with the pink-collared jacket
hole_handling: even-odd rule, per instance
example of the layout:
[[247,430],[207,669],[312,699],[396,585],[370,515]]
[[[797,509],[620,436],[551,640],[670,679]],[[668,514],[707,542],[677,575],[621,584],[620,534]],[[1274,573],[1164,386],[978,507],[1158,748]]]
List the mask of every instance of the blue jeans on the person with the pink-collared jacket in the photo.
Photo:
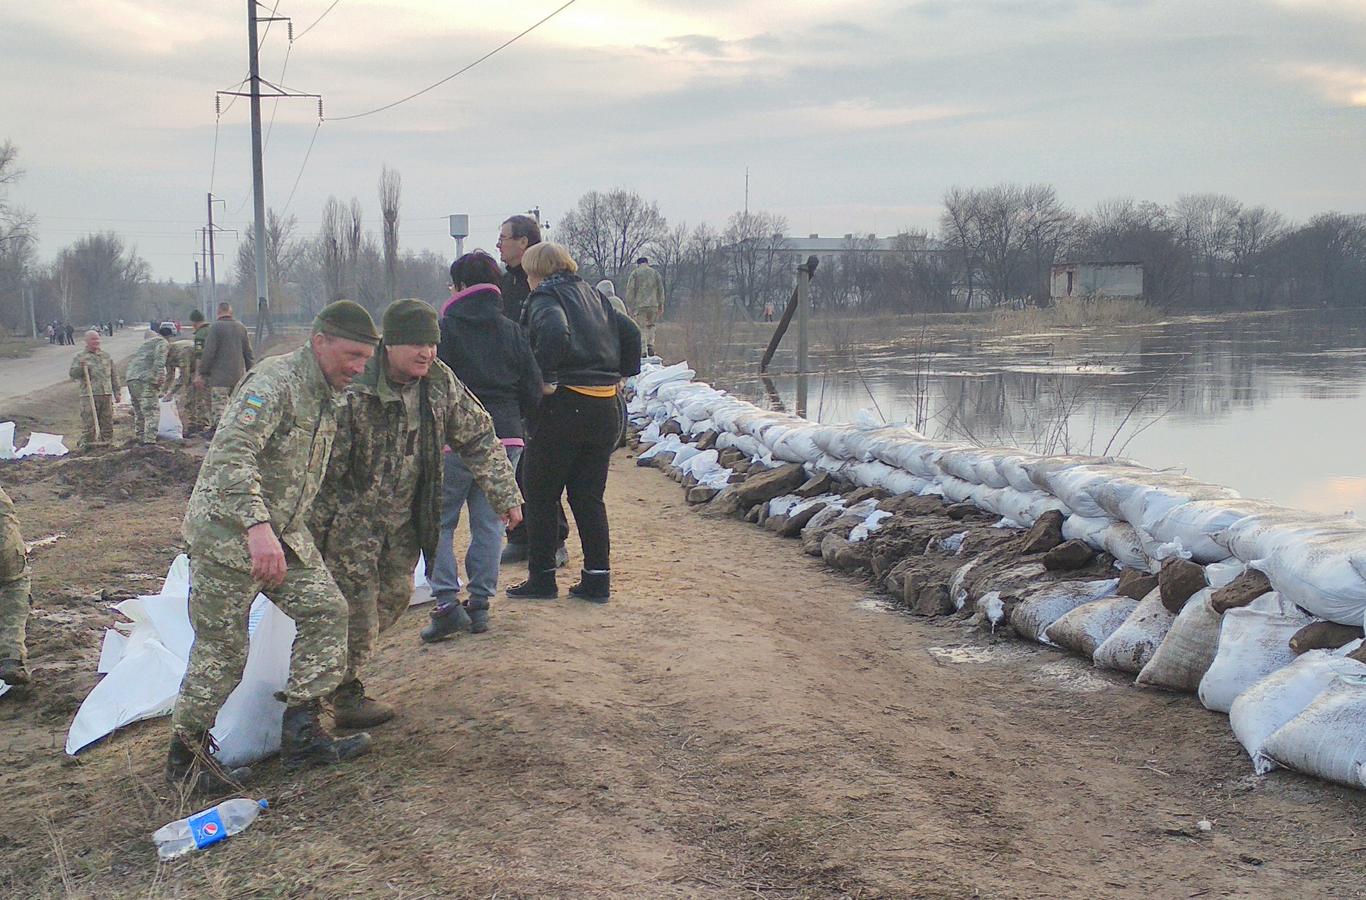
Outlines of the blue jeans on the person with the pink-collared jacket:
[[[516,466],[520,447],[505,447],[508,462]],[[470,549],[464,553],[464,576],[470,579],[470,601],[486,609],[489,597],[499,589],[499,559],[503,556],[504,524],[489,505],[489,498],[466,467],[459,453],[447,453],[441,474],[441,534],[436,560],[432,563],[432,595],[438,604],[454,604],[460,593],[460,574],[455,561],[455,527],[460,509],[470,507]],[[479,602],[477,602],[479,601]]]

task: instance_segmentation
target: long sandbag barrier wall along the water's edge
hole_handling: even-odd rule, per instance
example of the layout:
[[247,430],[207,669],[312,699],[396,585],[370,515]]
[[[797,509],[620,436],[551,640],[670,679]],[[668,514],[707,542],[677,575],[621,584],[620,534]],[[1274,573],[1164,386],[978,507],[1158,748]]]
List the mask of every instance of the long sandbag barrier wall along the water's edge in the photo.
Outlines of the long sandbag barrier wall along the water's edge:
[[[1264,773],[1366,787],[1366,527],[1132,460],[820,425],[646,365],[638,464],[922,615],[975,617],[1229,713]],[[1027,530],[1027,531],[1026,531]],[[1361,657],[1361,658],[1358,658]],[[1277,755],[1279,754],[1279,755]]]

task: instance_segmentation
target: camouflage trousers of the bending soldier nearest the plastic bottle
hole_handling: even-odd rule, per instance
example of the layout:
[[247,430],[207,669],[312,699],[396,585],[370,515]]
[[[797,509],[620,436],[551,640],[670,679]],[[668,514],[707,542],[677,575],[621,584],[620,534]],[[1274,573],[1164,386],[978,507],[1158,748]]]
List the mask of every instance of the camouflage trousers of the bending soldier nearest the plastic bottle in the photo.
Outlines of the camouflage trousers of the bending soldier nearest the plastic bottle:
[[332,694],[346,668],[346,600],[325,568],[290,564],[284,585],[262,590],[250,572],[190,557],[190,624],[194,645],[171,722],[180,731],[213,727],[219,707],[242,680],[247,662],[247,619],[260,590],[296,628],[290,656],[290,706]]

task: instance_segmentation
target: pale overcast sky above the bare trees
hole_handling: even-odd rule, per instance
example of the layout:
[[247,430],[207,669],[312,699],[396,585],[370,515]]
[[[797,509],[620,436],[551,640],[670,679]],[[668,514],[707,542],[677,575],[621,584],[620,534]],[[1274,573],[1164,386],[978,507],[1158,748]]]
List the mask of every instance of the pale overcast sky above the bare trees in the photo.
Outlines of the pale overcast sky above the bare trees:
[[[280,0],[298,38],[277,23],[262,48],[262,78],[325,98],[321,128],[314,101],[265,104],[266,203],[298,178],[301,234],[329,194],[373,227],[382,164],[403,176],[402,243],[443,254],[448,213],[492,249],[507,214],[538,205],[553,225],[591,188],[721,225],[746,167],[751,208],[799,235],[933,228],[947,187],[1005,180],[1083,210],[1217,191],[1296,220],[1366,212],[1366,0],[578,0],[354,120],[563,0],[340,0],[299,34],[331,1]],[[246,76],[245,3],[44,0],[4,19],[0,141],[27,171],[10,199],[40,217],[44,258],[115,229],[189,280],[210,187],[220,223],[249,227],[247,102],[214,127],[214,92]]]

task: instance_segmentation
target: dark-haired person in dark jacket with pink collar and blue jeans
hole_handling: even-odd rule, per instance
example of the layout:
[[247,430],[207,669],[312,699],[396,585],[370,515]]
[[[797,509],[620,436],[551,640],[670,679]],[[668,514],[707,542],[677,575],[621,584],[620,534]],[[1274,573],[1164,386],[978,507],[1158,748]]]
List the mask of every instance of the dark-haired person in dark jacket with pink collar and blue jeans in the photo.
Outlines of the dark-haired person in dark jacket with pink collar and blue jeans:
[[[499,313],[499,266],[486,253],[467,253],[451,264],[456,292],[441,307],[441,344],[437,355],[493,417],[493,429],[516,466],[526,447],[525,419],[541,403],[541,370],[520,326]],[[464,554],[469,600],[460,604],[455,560],[455,529],[470,508],[470,548]],[[422,639],[441,641],[470,630],[489,628],[489,601],[499,587],[503,519],[474,481],[466,460],[447,448],[441,489],[441,534],[432,567],[432,594],[437,606]]]

